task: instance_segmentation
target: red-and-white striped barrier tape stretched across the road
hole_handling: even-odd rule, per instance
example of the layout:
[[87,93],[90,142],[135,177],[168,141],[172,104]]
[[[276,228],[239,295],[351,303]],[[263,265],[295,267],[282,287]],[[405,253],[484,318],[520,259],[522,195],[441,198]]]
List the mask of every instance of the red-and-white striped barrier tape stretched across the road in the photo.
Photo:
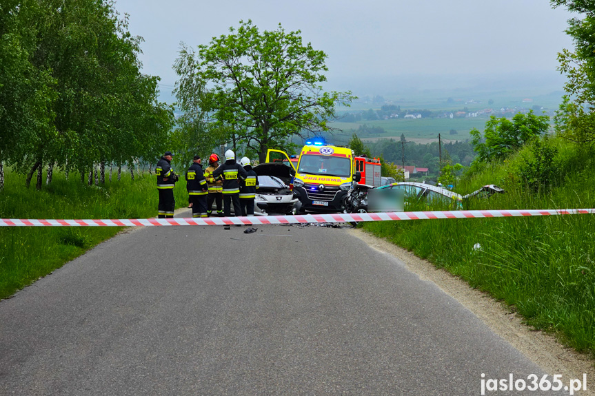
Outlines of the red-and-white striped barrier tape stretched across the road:
[[331,213],[295,216],[250,216],[216,218],[139,218],[111,220],[55,220],[1,218],[0,227],[152,227],[172,225],[268,225],[321,222],[361,222],[386,220],[437,220],[445,218],[499,218],[556,216],[595,213],[595,209],[528,209],[470,211],[403,211],[390,213]]

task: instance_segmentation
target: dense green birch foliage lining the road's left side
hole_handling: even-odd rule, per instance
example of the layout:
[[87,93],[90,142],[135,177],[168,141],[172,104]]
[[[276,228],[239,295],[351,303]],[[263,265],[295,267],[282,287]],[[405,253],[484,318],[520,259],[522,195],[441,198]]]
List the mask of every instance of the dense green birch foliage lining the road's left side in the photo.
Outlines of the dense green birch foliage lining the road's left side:
[[[0,160],[17,171],[153,160],[172,109],[110,0],[0,4]],[[41,168],[40,168],[41,169]]]

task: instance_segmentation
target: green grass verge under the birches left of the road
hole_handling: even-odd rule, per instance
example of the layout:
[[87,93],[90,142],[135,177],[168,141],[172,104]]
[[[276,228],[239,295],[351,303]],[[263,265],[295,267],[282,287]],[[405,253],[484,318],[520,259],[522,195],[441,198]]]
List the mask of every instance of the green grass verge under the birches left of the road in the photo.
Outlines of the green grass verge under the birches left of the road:
[[[44,179],[45,180],[45,179]],[[150,218],[157,216],[155,176],[122,174],[102,187],[81,184],[78,174],[65,180],[54,173],[41,191],[24,187],[24,177],[7,171],[0,193],[0,218]],[[185,182],[174,190],[177,207],[188,203]],[[0,299],[81,256],[111,238],[121,227],[0,227]]]

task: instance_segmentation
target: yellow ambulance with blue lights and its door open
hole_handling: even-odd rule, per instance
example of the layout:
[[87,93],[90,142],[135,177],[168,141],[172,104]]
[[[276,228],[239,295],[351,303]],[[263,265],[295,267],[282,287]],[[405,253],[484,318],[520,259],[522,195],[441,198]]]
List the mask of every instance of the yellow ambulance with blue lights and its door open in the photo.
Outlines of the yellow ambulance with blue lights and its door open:
[[294,193],[301,211],[336,213],[343,211],[343,198],[361,174],[355,170],[354,155],[349,147],[327,145],[323,140],[309,140],[301,149],[297,166],[281,150],[269,149],[267,162],[274,156],[287,159],[294,168]]

